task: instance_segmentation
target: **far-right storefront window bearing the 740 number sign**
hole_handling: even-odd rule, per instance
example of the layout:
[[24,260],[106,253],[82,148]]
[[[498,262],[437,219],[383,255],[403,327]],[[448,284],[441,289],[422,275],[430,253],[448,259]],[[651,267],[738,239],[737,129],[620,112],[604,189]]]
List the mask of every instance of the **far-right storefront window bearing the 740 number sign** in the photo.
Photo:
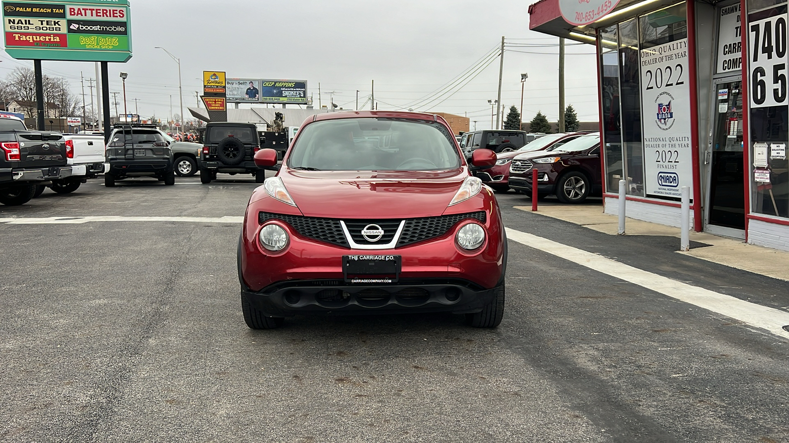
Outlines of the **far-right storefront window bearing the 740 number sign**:
[[748,15],[751,212],[789,218],[789,17],[786,4],[761,6]]

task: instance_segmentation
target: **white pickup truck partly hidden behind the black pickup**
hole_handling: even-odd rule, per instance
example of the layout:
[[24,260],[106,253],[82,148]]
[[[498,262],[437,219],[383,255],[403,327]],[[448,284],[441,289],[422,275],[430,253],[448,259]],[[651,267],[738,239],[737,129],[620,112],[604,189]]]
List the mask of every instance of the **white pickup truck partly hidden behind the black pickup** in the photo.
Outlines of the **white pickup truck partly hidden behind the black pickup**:
[[[100,134],[100,133],[99,133]],[[104,136],[91,134],[63,134],[65,155],[71,166],[71,177],[54,180],[48,188],[58,194],[77,191],[80,184],[104,172]],[[43,187],[36,190],[36,196]]]

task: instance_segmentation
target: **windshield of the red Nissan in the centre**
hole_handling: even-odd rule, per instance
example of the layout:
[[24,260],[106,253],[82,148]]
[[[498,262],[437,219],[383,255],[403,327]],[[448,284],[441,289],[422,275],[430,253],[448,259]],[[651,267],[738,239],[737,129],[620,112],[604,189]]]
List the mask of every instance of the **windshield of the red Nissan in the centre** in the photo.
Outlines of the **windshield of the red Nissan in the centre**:
[[343,118],[304,128],[288,166],[317,170],[439,170],[460,166],[443,125],[433,121]]

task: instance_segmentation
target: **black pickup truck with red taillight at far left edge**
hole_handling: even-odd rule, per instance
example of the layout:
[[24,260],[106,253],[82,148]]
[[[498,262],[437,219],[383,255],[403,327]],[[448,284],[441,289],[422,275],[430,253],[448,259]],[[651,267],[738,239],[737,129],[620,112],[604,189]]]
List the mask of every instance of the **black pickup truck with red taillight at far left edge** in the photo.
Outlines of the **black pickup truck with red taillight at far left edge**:
[[19,118],[0,114],[0,203],[28,203],[38,185],[70,177],[68,155],[61,133],[29,131]]

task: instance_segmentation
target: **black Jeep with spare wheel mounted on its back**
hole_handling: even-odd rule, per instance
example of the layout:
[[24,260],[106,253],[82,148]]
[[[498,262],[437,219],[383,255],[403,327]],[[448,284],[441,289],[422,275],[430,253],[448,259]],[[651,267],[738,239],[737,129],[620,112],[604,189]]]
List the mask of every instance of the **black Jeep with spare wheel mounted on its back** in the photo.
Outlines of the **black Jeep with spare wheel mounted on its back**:
[[216,180],[216,173],[251,173],[256,183],[265,180],[264,170],[255,165],[260,150],[257,128],[252,123],[211,122],[205,126],[200,157],[200,183]]

